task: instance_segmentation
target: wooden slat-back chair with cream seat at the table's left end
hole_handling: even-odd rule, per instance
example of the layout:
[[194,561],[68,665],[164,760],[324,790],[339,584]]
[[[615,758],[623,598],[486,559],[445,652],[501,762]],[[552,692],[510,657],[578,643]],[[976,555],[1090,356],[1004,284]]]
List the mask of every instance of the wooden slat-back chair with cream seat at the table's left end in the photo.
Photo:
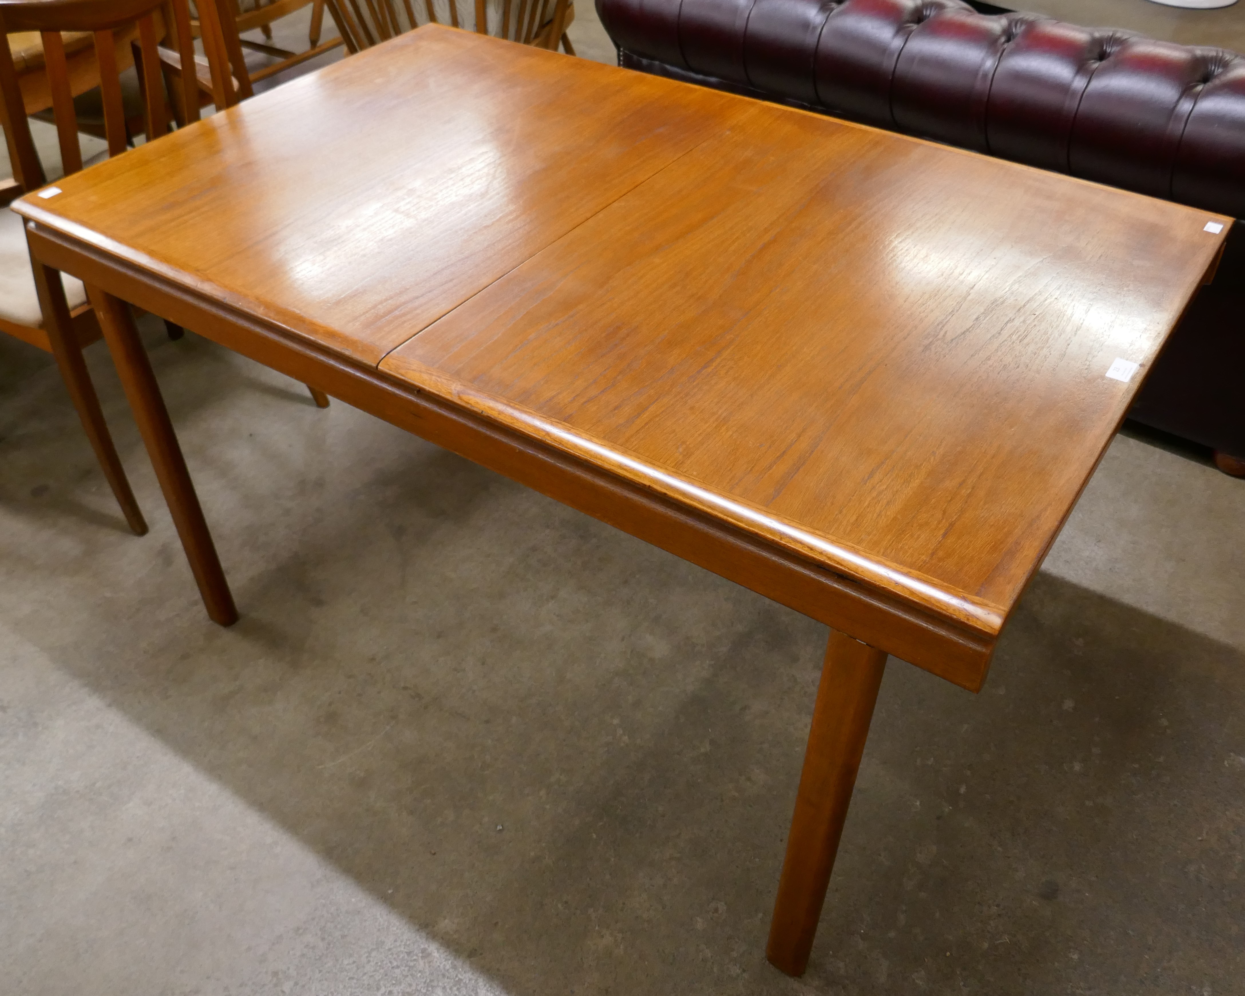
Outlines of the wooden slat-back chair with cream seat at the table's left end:
[[[215,7],[212,10],[215,11]],[[166,16],[172,21],[172,30],[167,34],[176,40],[181,55],[162,51],[158,46],[158,39],[166,34]],[[237,103],[237,83],[228,60],[222,57],[222,25],[214,14],[209,16],[215,31],[204,46],[208,51],[208,70],[204,73],[203,60],[194,56],[187,0],[0,0],[0,31],[6,36],[17,31],[40,34],[46,87],[65,173],[81,169],[83,162],[73,108],[81,77],[75,76],[70,67],[62,32],[72,32],[70,37],[86,34],[91,39],[103,103],[107,154],[117,156],[126,151],[131,137],[127,134],[121,96],[123,65],[132,63],[138,70],[143,131],[148,141],[164,134],[173,117],[183,122],[198,121],[203,88],[212,91],[218,106]],[[75,55],[81,55],[85,50],[80,37],[73,44],[77,45]],[[169,87],[178,91],[176,113],[166,97],[168,76],[186,83]],[[14,169],[14,182],[0,203],[0,331],[55,356],[117,503],[131,529],[142,535],[147,524],[126,479],[82,359],[82,347],[100,337],[100,326],[87,304],[86,290],[81,281],[71,276],[61,278],[57,271],[31,261],[21,219],[4,207],[15,197],[36,190],[47,182],[31,137],[27,102],[9,45],[0,45],[0,115]],[[169,331],[174,334],[179,330],[172,326]],[[321,407],[327,405],[322,393],[312,391],[312,397]]]

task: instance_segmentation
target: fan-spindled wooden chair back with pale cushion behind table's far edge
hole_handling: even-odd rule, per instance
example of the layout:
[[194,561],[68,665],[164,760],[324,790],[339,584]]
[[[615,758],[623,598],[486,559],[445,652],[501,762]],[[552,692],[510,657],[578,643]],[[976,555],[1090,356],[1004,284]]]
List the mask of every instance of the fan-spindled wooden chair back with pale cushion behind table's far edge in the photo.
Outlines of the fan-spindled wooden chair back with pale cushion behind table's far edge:
[[555,50],[570,0],[327,0],[346,41],[357,52],[425,24]]

